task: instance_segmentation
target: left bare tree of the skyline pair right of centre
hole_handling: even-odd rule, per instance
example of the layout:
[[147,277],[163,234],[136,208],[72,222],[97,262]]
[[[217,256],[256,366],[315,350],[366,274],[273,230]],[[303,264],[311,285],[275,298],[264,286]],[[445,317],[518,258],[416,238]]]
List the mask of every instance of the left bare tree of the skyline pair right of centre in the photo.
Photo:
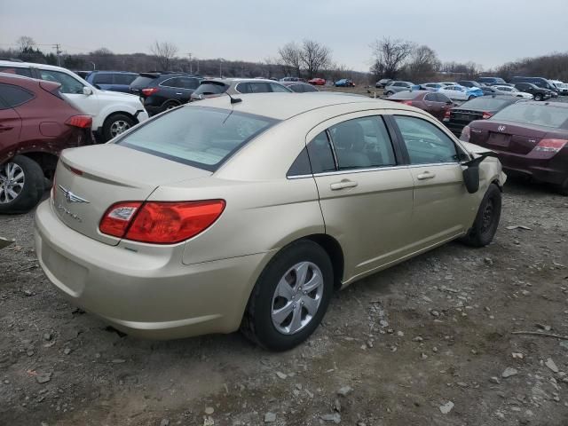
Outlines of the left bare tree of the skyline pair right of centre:
[[396,78],[398,71],[405,65],[406,59],[414,51],[414,43],[384,37],[371,43],[373,65],[371,72],[381,71],[378,77]]

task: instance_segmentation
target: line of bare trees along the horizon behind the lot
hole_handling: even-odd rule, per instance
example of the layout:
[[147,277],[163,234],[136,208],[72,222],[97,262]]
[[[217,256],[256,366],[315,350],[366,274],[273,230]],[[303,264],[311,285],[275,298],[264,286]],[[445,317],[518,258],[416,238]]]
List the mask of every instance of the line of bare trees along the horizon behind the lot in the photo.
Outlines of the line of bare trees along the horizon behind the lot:
[[351,78],[356,83],[375,83],[382,78],[408,80],[414,83],[438,81],[444,75],[475,80],[480,75],[499,75],[508,80],[514,75],[543,76],[568,80],[568,52],[554,53],[537,58],[512,61],[489,69],[474,62],[442,62],[436,51],[427,45],[384,37],[369,45],[371,51],[368,73],[357,72],[334,61],[331,49],[312,39],[292,41],[280,46],[273,57],[258,62],[243,60],[198,59],[178,54],[174,43],[156,41],[147,52],[119,54],[102,47],[87,53],[44,53],[33,38],[20,36],[13,49],[0,50],[4,59],[21,59],[28,62],[61,64],[73,70],[117,71],[177,71],[208,76],[266,77],[297,76],[305,79],[321,77],[335,81]]

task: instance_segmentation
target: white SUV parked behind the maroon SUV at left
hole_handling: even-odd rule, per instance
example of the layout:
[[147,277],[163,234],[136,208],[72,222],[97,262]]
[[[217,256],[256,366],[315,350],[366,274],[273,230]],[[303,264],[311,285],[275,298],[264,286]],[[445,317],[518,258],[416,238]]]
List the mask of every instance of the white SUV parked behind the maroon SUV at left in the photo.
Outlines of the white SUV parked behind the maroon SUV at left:
[[60,83],[59,92],[92,116],[92,130],[99,140],[114,138],[148,118],[138,96],[101,91],[63,67],[0,60],[0,71]]

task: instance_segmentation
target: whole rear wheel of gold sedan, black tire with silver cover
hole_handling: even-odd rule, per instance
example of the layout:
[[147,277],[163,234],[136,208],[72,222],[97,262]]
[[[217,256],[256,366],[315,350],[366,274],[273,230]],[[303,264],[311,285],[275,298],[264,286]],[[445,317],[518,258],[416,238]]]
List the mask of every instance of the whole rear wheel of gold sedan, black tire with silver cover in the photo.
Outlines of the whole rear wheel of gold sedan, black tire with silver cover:
[[333,288],[326,251],[313,241],[296,241],[274,256],[256,281],[241,332],[265,349],[288,351],[319,326]]

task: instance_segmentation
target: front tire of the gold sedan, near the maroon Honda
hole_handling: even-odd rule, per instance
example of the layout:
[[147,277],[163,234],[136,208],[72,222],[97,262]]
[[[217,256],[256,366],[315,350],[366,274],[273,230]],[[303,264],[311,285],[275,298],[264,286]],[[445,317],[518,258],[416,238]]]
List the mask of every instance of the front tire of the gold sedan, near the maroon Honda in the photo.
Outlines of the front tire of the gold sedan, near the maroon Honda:
[[479,205],[473,226],[461,241],[471,247],[485,247],[493,241],[500,218],[501,190],[497,185],[491,184]]

